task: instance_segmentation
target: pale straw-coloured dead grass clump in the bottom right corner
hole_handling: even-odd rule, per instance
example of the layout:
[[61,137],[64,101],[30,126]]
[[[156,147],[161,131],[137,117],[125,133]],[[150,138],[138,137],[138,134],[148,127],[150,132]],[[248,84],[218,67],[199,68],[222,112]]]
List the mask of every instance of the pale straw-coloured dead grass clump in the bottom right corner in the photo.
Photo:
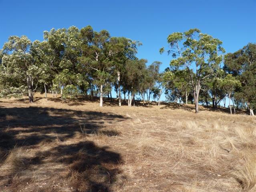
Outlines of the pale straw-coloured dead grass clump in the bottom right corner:
[[256,189],[256,154],[246,154],[234,176],[244,189]]

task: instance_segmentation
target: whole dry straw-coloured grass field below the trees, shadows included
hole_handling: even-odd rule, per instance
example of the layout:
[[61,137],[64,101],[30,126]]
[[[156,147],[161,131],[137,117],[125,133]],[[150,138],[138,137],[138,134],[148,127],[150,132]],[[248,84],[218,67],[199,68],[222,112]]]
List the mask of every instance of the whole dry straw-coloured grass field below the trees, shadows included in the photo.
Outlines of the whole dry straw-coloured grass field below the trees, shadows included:
[[256,190],[256,118],[175,104],[0,101],[0,191]]

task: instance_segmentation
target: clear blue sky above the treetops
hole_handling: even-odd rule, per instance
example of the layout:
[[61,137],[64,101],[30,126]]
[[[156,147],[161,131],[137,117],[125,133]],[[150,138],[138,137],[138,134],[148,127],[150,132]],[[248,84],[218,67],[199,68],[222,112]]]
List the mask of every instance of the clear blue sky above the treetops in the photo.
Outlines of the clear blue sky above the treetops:
[[256,42],[256,0],[0,0],[0,47],[11,35],[42,40],[51,28],[106,29],[143,43],[139,58],[169,66],[171,56],[160,55],[167,36],[199,28],[223,41],[226,52]]

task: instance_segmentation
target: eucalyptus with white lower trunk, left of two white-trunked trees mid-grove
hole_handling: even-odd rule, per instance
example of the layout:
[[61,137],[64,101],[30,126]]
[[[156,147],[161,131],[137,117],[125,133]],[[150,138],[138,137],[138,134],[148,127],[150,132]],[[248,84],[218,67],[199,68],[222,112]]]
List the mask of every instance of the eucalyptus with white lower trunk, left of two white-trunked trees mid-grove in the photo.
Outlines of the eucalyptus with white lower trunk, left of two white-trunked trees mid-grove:
[[111,80],[113,51],[109,45],[110,34],[106,30],[93,31],[91,26],[81,29],[82,55],[78,58],[80,65],[93,70],[93,82],[100,88],[100,105],[103,106],[103,88]]

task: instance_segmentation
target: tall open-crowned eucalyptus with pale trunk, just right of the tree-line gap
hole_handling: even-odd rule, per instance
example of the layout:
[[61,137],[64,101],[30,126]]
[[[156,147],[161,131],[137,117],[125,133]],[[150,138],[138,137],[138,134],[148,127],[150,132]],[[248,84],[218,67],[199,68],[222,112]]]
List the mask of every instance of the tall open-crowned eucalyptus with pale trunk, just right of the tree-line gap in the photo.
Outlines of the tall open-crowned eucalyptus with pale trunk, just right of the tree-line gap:
[[[167,37],[170,46],[168,54],[172,54],[171,66],[187,70],[193,90],[196,113],[202,82],[209,77],[222,61],[224,48],[222,42],[198,29],[186,32],[174,32]],[[182,43],[182,46],[180,46]],[[160,53],[164,48],[160,49]]]

